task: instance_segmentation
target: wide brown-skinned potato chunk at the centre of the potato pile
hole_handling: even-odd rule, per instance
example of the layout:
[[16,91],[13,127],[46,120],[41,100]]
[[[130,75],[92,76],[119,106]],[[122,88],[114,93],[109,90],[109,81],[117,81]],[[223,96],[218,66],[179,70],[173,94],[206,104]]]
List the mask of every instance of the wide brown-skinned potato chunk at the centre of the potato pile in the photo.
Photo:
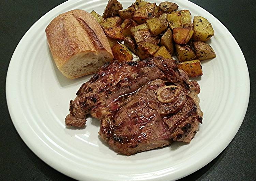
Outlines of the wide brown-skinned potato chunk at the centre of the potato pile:
[[159,44],[160,42],[160,38],[149,31],[136,31],[133,34],[138,45],[142,42],[150,42],[152,44]]

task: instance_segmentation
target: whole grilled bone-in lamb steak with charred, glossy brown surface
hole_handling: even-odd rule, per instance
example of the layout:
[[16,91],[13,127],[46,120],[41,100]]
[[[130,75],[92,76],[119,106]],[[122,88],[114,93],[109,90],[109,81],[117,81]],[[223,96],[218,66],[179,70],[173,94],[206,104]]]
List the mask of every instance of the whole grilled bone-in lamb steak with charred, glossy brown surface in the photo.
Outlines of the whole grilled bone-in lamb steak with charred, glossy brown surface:
[[83,84],[70,102],[66,125],[101,119],[100,137],[125,155],[190,142],[202,122],[200,92],[174,60],[111,62]]

